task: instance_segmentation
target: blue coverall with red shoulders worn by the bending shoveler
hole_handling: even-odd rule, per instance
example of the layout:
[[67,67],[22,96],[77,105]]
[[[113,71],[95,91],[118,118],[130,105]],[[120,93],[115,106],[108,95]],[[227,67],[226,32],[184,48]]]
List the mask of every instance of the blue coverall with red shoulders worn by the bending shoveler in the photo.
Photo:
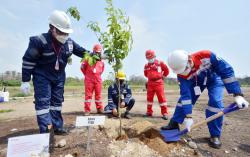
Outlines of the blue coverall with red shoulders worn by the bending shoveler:
[[[183,123],[185,116],[192,113],[193,105],[199,95],[195,95],[194,87],[199,86],[201,91],[208,90],[208,106],[206,117],[210,117],[223,110],[224,86],[229,94],[241,94],[233,68],[223,59],[211,51],[203,50],[191,55],[195,70],[188,76],[178,75],[180,98],[178,100],[172,120]],[[220,137],[223,117],[208,123],[211,137]]]

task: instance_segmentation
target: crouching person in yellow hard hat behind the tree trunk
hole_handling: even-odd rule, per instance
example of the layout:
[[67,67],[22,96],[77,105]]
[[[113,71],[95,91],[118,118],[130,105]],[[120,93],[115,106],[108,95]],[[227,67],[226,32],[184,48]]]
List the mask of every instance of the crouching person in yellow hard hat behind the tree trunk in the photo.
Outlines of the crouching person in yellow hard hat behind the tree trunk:
[[[130,119],[131,116],[129,115],[129,111],[133,108],[135,99],[132,98],[131,89],[125,79],[125,73],[122,71],[118,71],[115,83],[110,85],[108,88],[108,105],[104,108],[104,111],[105,113],[111,113],[113,116],[118,116],[118,86],[120,86],[120,108],[126,108],[126,112],[124,113],[123,117]],[[120,85],[118,83],[120,83]]]

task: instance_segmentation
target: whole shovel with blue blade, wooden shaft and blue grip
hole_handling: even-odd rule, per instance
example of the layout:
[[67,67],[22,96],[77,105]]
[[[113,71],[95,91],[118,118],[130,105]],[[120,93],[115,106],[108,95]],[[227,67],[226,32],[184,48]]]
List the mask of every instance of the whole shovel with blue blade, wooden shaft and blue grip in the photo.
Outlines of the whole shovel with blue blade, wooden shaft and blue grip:
[[[233,111],[237,111],[239,110],[239,107],[237,106],[236,103],[232,103],[231,105],[229,105],[228,107],[224,108],[223,111],[218,112],[217,114],[208,117],[207,119],[194,124],[190,130],[198,128],[199,126],[203,125],[203,124],[207,124],[208,122],[211,122],[212,120],[215,120],[227,113],[233,112]],[[161,135],[164,137],[164,141],[165,142],[176,142],[180,140],[180,137],[186,133],[188,133],[188,129],[184,129],[184,130],[179,130],[179,129],[173,129],[173,130],[161,130],[160,131]]]

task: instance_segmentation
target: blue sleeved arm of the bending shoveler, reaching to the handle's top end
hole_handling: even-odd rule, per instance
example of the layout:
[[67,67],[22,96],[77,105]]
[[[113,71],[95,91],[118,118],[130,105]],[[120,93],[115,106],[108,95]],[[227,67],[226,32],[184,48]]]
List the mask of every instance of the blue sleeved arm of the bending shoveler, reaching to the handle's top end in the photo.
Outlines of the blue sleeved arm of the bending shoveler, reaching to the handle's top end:
[[211,53],[210,59],[212,68],[221,77],[227,92],[229,94],[242,95],[240,84],[235,77],[232,66],[214,53]]

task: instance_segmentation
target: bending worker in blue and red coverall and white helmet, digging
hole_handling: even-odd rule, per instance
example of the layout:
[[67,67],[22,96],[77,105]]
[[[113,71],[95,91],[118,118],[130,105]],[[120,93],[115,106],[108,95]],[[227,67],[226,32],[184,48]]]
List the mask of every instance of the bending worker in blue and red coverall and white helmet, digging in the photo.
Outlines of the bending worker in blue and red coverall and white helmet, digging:
[[[222,58],[209,50],[202,50],[191,55],[184,50],[176,50],[168,57],[168,64],[180,86],[180,98],[174,115],[162,130],[179,129],[178,124],[184,123],[190,131],[193,125],[192,108],[202,91],[208,90],[208,106],[206,117],[223,110],[223,90],[233,94],[239,108],[247,108],[249,103],[244,99],[239,82],[235,78],[233,68]],[[221,147],[221,131],[223,117],[209,122],[209,144],[213,148]]]

